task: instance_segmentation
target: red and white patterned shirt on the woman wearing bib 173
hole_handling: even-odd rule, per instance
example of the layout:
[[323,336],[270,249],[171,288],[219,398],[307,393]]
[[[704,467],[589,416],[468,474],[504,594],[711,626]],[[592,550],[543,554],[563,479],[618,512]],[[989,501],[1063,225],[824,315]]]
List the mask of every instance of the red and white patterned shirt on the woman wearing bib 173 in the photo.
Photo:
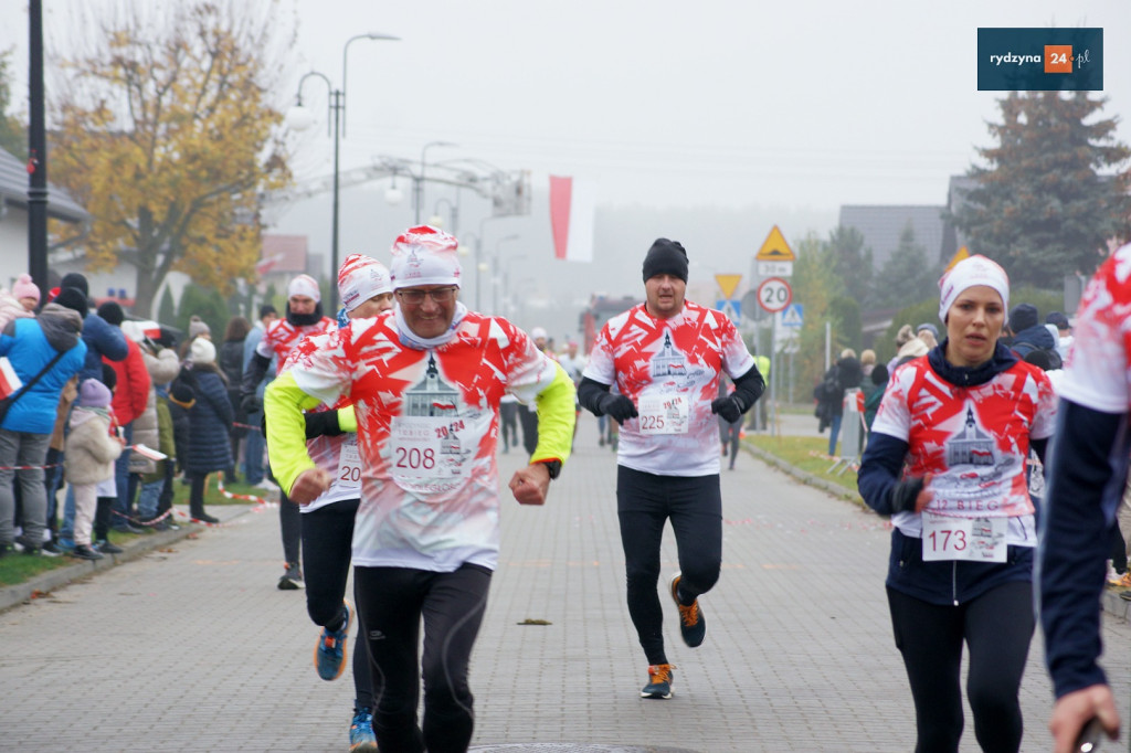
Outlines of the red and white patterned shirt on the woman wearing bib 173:
[[[1029,440],[1047,439],[1055,423],[1056,395],[1037,366],[1019,361],[985,384],[958,387],[921,356],[896,370],[872,432],[907,442],[909,476],[931,475],[929,511],[1009,518],[1007,542],[1034,546],[1025,462]],[[892,522],[922,536],[917,513],[897,513]]]

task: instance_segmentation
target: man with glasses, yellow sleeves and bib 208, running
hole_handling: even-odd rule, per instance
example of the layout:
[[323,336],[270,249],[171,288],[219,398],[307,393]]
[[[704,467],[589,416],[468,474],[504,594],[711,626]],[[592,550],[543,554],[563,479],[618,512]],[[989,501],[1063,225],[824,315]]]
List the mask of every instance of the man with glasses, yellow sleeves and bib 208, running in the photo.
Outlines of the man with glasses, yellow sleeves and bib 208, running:
[[340,397],[354,406],[354,595],[382,751],[465,751],[470,742],[467,668],[499,559],[503,392],[538,407],[538,447],[509,483],[520,504],[545,502],[573,433],[573,382],[561,366],[506,319],[459,302],[457,246],[428,226],[402,234],[390,265],[394,310],[304,340],[265,398],[271,467],[300,504],[330,482],[307,455],[303,408]]

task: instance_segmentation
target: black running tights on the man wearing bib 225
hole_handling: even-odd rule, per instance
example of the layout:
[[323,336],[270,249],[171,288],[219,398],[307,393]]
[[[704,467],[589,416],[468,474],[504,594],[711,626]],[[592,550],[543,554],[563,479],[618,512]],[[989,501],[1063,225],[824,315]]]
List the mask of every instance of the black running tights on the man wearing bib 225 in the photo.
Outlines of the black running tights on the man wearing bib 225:
[[[659,581],[659,545],[671,519],[680,559],[680,592],[698,598],[718,581],[723,564],[723,494],[718,474],[657,476],[616,467],[616,514],[628,587],[629,616],[648,664],[667,664]],[[666,588],[666,586],[665,586]]]

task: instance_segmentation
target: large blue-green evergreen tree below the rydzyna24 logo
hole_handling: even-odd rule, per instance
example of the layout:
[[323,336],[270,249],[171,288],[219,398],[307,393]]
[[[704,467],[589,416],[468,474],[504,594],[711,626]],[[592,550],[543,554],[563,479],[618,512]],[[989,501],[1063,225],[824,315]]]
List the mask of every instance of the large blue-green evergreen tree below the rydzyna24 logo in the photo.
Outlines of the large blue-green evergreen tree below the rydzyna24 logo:
[[1108,239],[1129,236],[1131,172],[1100,175],[1131,157],[1116,119],[1094,119],[1105,102],[1087,92],[1010,92],[999,102],[998,145],[978,149],[987,166],[967,173],[977,188],[951,219],[1011,282],[1059,288],[1064,275],[1091,274]]

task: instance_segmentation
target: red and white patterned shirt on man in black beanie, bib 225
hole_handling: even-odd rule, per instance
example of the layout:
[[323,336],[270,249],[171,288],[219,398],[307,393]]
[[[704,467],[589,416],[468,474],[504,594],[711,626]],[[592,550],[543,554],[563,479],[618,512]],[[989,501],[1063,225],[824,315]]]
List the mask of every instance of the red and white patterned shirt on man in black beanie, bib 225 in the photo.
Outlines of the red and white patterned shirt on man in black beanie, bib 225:
[[582,375],[615,386],[640,414],[621,426],[618,462],[661,476],[709,476],[719,470],[710,412],[719,375],[741,376],[753,365],[726,314],[688,301],[659,319],[641,303],[602,328]]

